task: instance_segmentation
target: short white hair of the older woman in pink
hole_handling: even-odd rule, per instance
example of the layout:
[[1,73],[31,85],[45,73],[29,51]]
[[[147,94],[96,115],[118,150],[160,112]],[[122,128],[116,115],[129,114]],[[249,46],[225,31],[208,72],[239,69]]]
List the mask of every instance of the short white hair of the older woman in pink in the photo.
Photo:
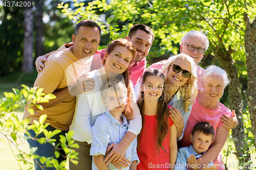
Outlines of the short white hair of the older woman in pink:
[[215,76],[221,76],[222,79],[223,79],[223,82],[225,84],[225,87],[229,84],[230,80],[228,79],[227,77],[227,72],[220,68],[220,67],[217,67],[216,65],[209,65],[205,68],[205,72],[203,74],[203,77],[202,77],[202,81],[204,83],[204,80],[208,77],[208,76],[211,76],[211,75],[215,75]]

